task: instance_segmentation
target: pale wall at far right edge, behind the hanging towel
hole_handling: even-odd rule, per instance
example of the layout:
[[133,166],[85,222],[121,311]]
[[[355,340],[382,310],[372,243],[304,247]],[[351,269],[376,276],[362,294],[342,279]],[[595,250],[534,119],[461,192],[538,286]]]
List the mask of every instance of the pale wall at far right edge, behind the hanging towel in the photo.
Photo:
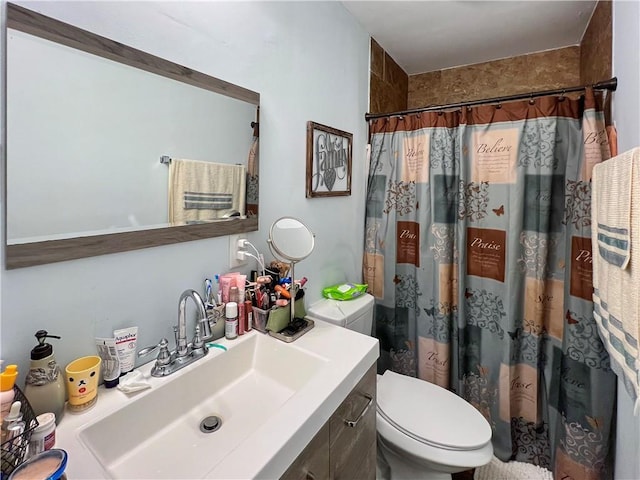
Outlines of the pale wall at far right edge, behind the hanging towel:
[[[618,89],[613,100],[613,119],[618,131],[618,150],[640,146],[640,2],[613,2],[613,74]],[[640,478],[640,418],[624,385],[618,382],[617,480]]]

